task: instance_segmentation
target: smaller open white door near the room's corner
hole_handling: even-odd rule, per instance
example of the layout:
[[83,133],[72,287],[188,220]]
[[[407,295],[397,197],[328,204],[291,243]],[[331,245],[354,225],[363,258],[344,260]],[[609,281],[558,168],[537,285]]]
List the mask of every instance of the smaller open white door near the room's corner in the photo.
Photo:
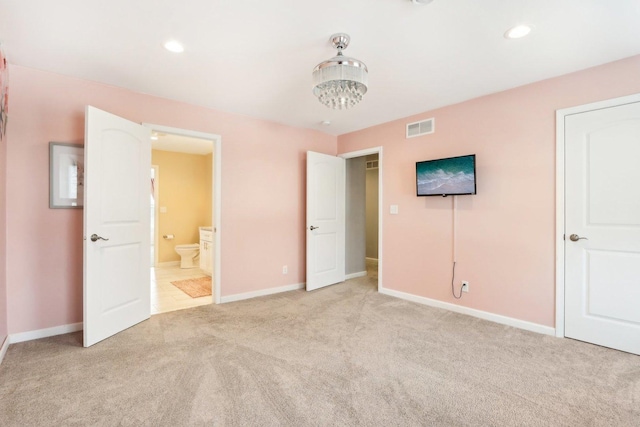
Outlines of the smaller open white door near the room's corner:
[[307,291],[345,280],[345,160],[307,151]]

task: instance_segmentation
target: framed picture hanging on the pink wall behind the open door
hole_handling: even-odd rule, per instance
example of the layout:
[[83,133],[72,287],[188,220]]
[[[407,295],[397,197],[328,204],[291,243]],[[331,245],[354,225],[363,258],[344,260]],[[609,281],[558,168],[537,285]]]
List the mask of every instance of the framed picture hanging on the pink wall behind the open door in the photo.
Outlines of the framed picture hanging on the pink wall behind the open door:
[[49,142],[49,208],[84,206],[84,147]]

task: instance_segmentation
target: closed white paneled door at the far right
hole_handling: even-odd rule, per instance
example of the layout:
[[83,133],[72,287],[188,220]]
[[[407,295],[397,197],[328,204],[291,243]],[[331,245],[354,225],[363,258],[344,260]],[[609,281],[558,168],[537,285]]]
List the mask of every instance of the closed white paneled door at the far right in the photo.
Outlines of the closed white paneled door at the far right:
[[640,103],[565,117],[565,336],[640,354]]

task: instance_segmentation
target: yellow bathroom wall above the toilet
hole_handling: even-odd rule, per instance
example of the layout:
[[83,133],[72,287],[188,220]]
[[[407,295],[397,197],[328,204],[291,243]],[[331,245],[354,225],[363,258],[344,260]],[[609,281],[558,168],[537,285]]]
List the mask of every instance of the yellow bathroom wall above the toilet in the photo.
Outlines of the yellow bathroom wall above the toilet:
[[[179,261],[175,245],[199,243],[199,226],[211,225],[211,155],[151,151],[158,165],[158,263]],[[173,240],[162,236],[173,234]]]

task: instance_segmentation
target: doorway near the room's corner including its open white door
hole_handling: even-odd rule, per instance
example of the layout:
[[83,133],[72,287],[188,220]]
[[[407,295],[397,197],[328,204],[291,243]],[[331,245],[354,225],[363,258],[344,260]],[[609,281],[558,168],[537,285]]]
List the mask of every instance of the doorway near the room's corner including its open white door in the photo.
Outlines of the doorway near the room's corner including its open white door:
[[[367,275],[366,268],[366,158],[377,155],[377,274],[373,279],[382,292],[382,147],[374,147],[339,156],[307,152],[307,291],[313,291],[345,279]],[[356,159],[361,158],[361,159]],[[347,178],[347,160],[355,167]],[[357,180],[349,183],[352,179]],[[358,189],[359,188],[359,189]],[[375,191],[375,190],[374,190]],[[359,202],[355,202],[358,199]],[[349,203],[349,206],[347,206]],[[347,230],[347,222],[349,231]],[[320,232],[318,232],[320,229]],[[350,233],[347,236],[347,233]],[[349,241],[349,243],[347,243]]]

